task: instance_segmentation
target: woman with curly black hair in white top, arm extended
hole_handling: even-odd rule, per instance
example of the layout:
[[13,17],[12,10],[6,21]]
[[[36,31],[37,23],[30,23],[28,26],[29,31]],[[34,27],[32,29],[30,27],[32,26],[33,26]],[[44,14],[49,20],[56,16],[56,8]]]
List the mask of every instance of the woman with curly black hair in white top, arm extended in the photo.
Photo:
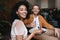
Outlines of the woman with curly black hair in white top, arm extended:
[[25,27],[23,20],[26,18],[28,13],[28,2],[19,1],[13,7],[12,11],[12,29],[11,29],[11,40],[31,40],[31,38],[40,33],[40,30],[36,30],[27,37],[27,28]]

